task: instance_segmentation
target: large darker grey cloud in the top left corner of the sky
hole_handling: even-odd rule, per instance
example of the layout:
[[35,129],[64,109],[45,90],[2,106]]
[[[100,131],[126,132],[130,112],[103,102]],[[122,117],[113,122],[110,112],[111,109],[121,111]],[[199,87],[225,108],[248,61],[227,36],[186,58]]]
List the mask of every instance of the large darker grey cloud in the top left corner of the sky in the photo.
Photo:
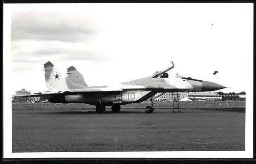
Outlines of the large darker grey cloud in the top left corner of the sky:
[[12,14],[12,40],[87,41],[95,33],[88,19],[63,12],[19,11]]

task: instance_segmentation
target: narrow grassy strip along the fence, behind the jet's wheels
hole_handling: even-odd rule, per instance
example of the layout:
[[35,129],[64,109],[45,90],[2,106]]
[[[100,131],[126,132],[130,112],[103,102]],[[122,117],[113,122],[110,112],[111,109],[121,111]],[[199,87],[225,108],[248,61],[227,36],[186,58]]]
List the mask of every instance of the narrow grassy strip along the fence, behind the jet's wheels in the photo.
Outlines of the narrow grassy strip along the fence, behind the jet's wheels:
[[[177,102],[175,102],[177,104]],[[127,104],[121,106],[122,109],[145,109],[150,102]],[[156,109],[171,109],[172,102],[154,102]],[[216,110],[238,110],[245,111],[245,101],[187,101],[179,102],[179,107],[182,109],[216,109]],[[51,104],[51,103],[12,103],[12,109],[95,109],[95,106],[88,104]],[[107,106],[106,109],[111,109]]]

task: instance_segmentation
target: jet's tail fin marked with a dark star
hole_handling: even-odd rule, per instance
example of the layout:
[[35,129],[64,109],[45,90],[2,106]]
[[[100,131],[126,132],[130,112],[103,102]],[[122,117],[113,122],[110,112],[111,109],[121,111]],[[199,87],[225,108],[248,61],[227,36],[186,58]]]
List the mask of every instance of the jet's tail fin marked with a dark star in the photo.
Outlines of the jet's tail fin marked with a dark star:
[[48,61],[44,64],[46,87],[51,91],[69,89],[65,82],[65,76],[61,75],[55,66]]

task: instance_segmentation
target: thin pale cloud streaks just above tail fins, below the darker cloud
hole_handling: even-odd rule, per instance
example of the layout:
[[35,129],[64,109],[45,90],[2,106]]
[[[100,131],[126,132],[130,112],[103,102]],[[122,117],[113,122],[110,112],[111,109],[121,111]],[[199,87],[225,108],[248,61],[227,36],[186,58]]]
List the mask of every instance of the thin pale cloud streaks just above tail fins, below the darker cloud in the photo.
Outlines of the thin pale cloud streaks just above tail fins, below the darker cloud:
[[[16,64],[39,63],[46,61],[105,61],[90,49],[86,43],[70,43],[61,41],[12,41],[12,62]],[[14,49],[15,48],[15,49]]]

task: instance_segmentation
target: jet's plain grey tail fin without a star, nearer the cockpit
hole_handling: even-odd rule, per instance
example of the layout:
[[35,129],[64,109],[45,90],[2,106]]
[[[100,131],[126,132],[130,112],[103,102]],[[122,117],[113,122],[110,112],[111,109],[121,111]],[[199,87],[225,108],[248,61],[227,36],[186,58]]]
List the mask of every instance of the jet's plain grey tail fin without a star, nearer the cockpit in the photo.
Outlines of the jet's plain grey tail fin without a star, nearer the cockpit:
[[79,73],[74,66],[67,69],[68,77],[66,77],[66,82],[70,89],[81,89],[88,87],[87,83],[81,73]]

